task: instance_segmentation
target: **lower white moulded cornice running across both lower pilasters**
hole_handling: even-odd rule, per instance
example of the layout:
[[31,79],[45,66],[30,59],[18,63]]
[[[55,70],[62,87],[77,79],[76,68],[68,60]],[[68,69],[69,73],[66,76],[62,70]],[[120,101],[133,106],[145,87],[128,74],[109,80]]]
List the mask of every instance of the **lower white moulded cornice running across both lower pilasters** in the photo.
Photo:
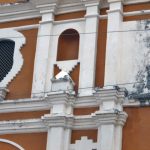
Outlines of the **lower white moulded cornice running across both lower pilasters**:
[[73,116],[46,114],[41,119],[0,121],[0,134],[47,132],[51,127],[97,129],[100,125],[121,125],[126,122],[125,112],[96,112],[92,115]]

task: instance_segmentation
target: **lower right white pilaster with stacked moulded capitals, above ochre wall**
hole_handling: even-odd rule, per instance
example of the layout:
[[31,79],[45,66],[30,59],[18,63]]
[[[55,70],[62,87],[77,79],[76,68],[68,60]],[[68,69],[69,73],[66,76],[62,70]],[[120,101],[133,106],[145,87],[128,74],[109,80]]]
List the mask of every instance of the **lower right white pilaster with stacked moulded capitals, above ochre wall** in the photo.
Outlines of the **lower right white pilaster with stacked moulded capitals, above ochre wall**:
[[95,113],[98,125],[98,150],[121,150],[122,128],[127,114],[123,111],[125,89],[99,89],[94,93],[100,110]]

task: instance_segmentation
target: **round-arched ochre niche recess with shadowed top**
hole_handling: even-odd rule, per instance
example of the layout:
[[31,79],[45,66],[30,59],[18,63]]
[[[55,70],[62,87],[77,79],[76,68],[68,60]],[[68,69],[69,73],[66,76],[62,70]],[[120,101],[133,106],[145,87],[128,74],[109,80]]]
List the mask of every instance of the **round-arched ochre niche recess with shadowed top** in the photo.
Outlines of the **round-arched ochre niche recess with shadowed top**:
[[75,29],[63,31],[58,39],[57,61],[78,59],[79,40],[79,33]]

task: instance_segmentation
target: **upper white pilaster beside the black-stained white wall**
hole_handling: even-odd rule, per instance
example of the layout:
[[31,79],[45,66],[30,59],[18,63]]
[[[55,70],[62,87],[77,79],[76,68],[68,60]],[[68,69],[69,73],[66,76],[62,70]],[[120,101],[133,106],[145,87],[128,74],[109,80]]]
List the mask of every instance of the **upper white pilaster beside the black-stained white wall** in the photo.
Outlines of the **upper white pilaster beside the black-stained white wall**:
[[107,48],[105,63],[105,85],[120,82],[121,76],[121,31],[123,22],[123,0],[108,0]]

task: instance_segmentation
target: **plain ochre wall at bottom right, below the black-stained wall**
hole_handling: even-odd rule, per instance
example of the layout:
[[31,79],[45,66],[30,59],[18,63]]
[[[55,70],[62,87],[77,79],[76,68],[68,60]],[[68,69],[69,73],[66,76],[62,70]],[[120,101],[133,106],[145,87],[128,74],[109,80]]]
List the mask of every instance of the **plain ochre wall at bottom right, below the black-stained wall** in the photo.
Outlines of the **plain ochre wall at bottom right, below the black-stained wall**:
[[125,108],[122,150],[150,150],[150,108]]

